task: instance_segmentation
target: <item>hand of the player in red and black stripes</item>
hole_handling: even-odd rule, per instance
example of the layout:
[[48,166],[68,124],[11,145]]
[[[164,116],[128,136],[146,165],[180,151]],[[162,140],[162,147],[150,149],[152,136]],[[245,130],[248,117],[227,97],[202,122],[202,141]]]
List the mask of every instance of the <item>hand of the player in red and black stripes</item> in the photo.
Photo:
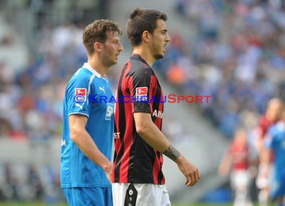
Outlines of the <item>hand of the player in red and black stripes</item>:
[[180,155],[175,162],[179,170],[184,174],[186,180],[184,184],[186,186],[193,186],[199,179],[200,173],[198,169],[191,164],[184,156]]

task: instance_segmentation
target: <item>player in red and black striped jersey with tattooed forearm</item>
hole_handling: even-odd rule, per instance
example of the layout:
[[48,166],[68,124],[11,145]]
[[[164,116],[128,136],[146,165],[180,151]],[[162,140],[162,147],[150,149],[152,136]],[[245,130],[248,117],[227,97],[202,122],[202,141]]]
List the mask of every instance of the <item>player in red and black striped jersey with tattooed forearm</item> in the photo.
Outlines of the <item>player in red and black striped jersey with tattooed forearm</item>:
[[[170,41],[167,15],[135,8],[126,22],[132,55],[122,66],[114,111],[115,152],[112,169],[113,204],[171,205],[162,173],[162,154],[184,174],[186,186],[200,178],[198,169],[161,132],[163,94],[151,66],[163,58]],[[127,97],[130,101],[119,101]]]

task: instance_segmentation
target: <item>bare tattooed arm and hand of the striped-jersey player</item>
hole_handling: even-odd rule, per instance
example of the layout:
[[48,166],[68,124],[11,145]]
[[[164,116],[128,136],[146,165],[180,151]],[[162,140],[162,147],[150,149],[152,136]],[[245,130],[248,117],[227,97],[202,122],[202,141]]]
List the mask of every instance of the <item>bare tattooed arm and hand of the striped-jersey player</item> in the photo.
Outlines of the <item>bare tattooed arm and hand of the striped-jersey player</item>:
[[186,177],[185,184],[193,186],[200,178],[198,169],[175,149],[152,122],[150,113],[133,113],[137,133],[153,148],[177,163],[179,170]]

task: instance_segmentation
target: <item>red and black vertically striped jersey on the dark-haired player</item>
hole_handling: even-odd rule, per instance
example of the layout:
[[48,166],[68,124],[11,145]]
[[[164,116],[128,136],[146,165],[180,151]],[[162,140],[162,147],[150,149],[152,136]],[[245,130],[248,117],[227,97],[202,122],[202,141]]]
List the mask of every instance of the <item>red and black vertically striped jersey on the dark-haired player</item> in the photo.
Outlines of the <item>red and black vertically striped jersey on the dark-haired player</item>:
[[163,101],[154,71],[138,54],[132,54],[118,79],[112,182],[164,184],[162,154],[140,137],[133,118],[133,112],[150,113],[161,130]]

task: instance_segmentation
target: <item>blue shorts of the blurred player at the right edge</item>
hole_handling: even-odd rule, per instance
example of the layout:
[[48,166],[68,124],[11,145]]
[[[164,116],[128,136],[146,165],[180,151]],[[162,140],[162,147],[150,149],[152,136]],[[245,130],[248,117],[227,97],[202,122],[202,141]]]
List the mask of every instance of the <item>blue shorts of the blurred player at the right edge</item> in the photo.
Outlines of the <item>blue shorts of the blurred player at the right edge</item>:
[[270,197],[275,199],[285,194],[285,176],[274,176],[270,183]]

